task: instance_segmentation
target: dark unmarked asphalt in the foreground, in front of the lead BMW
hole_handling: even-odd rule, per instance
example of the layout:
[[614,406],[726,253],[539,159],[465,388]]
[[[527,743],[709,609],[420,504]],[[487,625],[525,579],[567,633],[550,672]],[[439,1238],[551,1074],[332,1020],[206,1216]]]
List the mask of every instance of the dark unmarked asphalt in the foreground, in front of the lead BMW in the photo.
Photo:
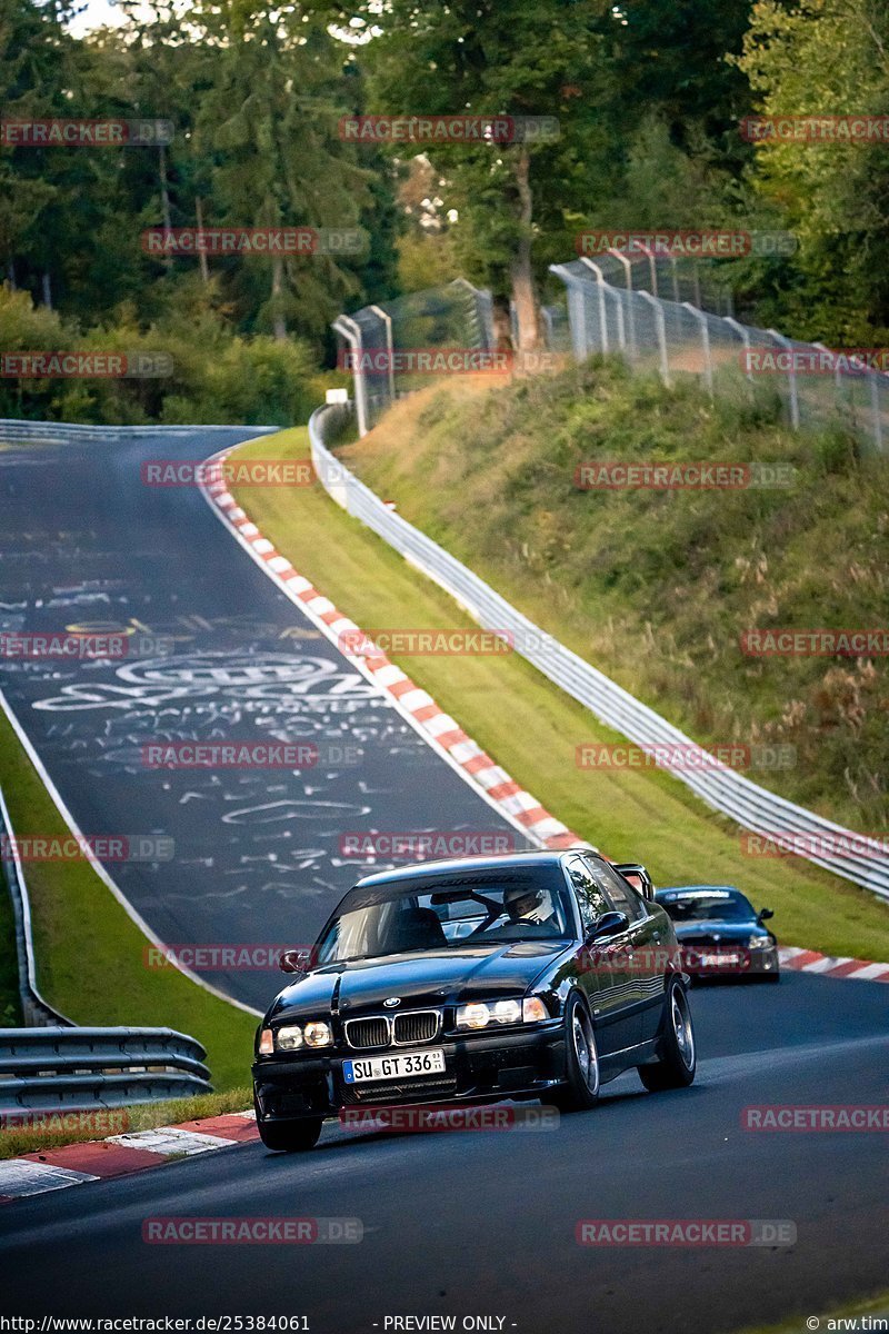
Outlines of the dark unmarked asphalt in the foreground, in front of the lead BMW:
[[[741,1115],[885,1107],[886,987],[789,974],[780,986],[694,987],[692,1007],[690,1090],[646,1094],[630,1073],[552,1131],[333,1125],[307,1155],[251,1143],[4,1205],[3,1310],[305,1315],[312,1334],[384,1334],[399,1327],[387,1318],[407,1315],[453,1315],[454,1329],[485,1315],[520,1334],[718,1334],[885,1287],[885,1134],[754,1133]],[[147,1219],[169,1217],[359,1218],[364,1239],[143,1241]],[[582,1247],[581,1219],[777,1219],[796,1242]],[[424,1327],[448,1326],[400,1326]]]

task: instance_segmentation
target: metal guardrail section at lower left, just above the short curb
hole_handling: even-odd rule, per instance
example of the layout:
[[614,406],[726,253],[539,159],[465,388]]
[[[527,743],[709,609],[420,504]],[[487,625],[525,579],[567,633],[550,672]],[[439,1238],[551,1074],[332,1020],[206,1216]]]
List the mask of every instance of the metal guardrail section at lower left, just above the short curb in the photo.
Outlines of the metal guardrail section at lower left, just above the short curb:
[[0,1029],[0,1115],[209,1093],[205,1055],[175,1029]]

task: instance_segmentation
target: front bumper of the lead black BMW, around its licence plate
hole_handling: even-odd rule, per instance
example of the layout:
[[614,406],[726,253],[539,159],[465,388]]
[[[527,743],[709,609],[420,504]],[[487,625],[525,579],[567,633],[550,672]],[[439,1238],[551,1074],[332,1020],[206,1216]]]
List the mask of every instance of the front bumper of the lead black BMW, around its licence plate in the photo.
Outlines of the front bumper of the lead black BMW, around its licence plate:
[[[444,1038],[429,1043],[444,1051],[445,1069],[419,1078],[347,1085],[343,1062],[388,1055],[377,1051],[336,1051],[324,1057],[264,1057],[253,1065],[256,1114],[263,1122],[337,1117],[344,1107],[416,1103],[490,1102],[540,1095],[565,1077],[565,1037],[561,1023],[529,1033]],[[424,1047],[400,1049],[423,1051]]]

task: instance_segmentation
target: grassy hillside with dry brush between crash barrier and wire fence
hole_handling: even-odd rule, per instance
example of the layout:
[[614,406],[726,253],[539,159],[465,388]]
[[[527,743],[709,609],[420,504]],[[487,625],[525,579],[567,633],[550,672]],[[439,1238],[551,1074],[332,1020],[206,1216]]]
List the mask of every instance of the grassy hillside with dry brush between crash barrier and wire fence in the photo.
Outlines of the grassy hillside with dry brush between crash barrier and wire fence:
[[[427,391],[344,458],[696,740],[794,747],[792,767],[750,770],[756,782],[864,832],[889,826],[886,659],[740,644],[766,627],[889,626],[886,460],[862,460],[840,431],[786,431],[768,400],[712,403],[614,364]],[[796,472],[774,490],[580,490],[577,466],[596,460]]]

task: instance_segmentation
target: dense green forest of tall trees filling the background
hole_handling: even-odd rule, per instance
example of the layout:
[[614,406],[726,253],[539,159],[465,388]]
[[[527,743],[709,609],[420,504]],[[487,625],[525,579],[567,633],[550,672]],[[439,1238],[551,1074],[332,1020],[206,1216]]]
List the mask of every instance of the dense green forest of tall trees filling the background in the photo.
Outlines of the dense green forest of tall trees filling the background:
[[[76,37],[69,0],[0,0],[0,351],[163,352],[173,370],[4,370],[3,415],[297,420],[336,374],[324,368],[339,311],[458,273],[514,300],[530,347],[546,267],[585,228],[786,229],[792,255],[725,261],[738,308],[832,346],[889,342],[884,0],[119,8],[119,27]],[[546,117],[558,132],[424,143],[343,129],[454,113]],[[860,143],[742,133],[745,117],[774,115],[886,121]],[[72,119],[129,128],[77,145],[16,129]],[[351,243],[145,244],[151,228],[225,227]]]

